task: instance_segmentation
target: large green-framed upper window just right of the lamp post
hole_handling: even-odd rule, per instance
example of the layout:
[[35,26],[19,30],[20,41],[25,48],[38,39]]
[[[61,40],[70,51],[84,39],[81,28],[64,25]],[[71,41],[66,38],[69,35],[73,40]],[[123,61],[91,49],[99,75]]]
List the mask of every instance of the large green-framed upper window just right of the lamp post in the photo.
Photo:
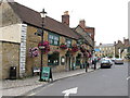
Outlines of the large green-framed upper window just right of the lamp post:
[[49,42],[50,42],[50,45],[58,46],[60,45],[60,36],[49,33]]

